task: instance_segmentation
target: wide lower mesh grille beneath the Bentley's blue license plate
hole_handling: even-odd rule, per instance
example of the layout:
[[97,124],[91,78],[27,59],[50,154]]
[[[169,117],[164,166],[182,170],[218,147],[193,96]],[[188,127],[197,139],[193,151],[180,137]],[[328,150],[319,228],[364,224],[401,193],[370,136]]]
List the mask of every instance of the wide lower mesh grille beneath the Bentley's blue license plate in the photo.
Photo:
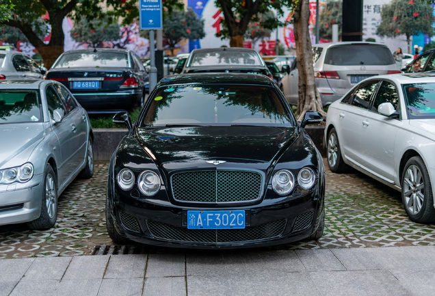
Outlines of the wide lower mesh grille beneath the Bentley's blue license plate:
[[150,234],[155,238],[183,243],[239,243],[276,238],[282,234],[287,219],[272,221],[243,230],[189,230],[165,223],[146,221]]

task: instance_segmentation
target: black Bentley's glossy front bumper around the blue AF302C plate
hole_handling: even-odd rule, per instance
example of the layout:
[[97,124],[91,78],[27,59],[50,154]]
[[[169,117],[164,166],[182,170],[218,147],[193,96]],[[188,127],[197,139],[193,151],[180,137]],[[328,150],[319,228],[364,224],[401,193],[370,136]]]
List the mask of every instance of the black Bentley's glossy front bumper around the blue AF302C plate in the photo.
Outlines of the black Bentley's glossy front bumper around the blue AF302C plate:
[[[281,245],[308,238],[324,196],[320,188],[298,197],[264,199],[260,204],[226,208],[150,203],[113,191],[114,219],[130,240],[148,245],[198,249],[233,249]],[[323,207],[322,207],[323,208]],[[242,230],[189,230],[187,210],[245,210]]]

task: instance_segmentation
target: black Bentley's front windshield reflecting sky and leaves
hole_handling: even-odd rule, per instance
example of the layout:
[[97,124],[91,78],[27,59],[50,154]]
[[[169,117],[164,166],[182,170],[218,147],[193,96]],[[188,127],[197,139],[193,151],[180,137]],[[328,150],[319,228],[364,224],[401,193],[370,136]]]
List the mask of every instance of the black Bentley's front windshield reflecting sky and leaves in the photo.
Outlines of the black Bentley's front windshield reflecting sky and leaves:
[[241,85],[166,86],[141,123],[153,125],[289,125],[294,121],[273,88]]

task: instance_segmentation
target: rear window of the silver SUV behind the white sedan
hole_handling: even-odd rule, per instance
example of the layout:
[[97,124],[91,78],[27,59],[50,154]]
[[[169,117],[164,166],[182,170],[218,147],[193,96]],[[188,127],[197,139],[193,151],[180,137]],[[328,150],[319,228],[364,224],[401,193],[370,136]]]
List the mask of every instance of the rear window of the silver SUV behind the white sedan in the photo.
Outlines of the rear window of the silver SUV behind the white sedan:
[[381,45],[340,45],[326,51],[325,64],[336,66],[379,66],[395,64],[388,47]]

